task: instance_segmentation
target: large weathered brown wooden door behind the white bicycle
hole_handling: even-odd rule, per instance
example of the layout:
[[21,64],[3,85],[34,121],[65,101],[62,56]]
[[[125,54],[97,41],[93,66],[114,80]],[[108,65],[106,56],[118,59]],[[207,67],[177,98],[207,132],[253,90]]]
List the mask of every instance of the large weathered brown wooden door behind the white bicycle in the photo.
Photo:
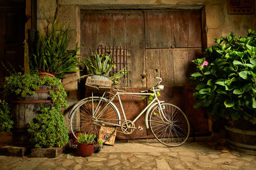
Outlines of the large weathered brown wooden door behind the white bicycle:
[[[81,12],[81,53],[97,46],[125,46],[128,52],[128,91],[140,91],[162,77],[161,99],[178,105],[189,117],[196,133],[208,132],[203,111],[195,111],[191,100],[189,72],[191,59],[202,52],[200,10],[110,10]],[[146,76],[141,76],[141,75]],[[140,97],[122,97],[127,119],[133,120],[147,105]],[[117,107],[118,103],[116,102]],[[152,137],[145,129],[142,116],[131,135],[118,134],[118,139]]]

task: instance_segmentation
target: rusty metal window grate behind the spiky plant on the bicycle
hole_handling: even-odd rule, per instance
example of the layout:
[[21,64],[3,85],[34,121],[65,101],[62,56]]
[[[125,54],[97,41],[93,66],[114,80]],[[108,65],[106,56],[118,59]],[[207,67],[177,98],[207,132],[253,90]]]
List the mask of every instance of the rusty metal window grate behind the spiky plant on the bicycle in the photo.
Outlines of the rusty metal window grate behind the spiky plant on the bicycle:
[[[116,68],[112,68],[112,70],[109,72],[109,75],[115,75],[115,73],[118,73],[122,68],[125,68],[127,70],[127,47],[118,47],[110,45],[108,47],[103,47],[102,45],[99,45],[97,48],[98,54],[109,54],[111,52],[112,59],[115,62]],[[118,79],[118,82],[121,82],[120,86],[127,86],[128,85],[128,75],[127,72],[125,73],[124,77],[121,77]]]

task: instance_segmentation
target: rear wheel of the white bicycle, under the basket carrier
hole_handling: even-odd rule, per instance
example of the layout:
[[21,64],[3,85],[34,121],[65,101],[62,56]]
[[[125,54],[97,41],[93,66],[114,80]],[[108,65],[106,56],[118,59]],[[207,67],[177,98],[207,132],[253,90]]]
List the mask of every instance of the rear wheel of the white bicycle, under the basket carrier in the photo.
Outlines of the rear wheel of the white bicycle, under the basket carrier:
[[[112,127],[116,130],[115,124],[120,124],[119,112],[116,110],[115,105],[108,102],[106,98],[88,98],[88,100],[76,105],[76,108],[72,110],[70,127],[74,137],[76,137],[76,132],[86,132],[86,134],[95,134],[99,137],[101,126]],[[104,138],[103,143],[106,143],[112,135],[109,134],[108,137]]]

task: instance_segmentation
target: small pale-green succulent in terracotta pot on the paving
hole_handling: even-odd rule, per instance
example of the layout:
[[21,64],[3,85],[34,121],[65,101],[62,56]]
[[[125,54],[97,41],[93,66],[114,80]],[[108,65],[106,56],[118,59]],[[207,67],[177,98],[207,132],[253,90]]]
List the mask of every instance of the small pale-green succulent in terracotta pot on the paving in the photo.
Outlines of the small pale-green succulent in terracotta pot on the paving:
[[94,139],[95,134],[81,134],[77,137],[77,154],[82,157],[89,157],[92,155],[94,150]]

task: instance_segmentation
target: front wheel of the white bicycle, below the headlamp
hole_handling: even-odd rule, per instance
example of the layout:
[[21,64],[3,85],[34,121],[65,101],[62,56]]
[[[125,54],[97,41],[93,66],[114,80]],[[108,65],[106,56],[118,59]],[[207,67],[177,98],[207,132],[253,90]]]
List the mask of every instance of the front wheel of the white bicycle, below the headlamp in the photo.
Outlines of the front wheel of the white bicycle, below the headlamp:
[[184,112],[173,104],[161,104],[150,113],[150,128],[156,139],[166,146],[180,146],[189,136],[189,121]]

